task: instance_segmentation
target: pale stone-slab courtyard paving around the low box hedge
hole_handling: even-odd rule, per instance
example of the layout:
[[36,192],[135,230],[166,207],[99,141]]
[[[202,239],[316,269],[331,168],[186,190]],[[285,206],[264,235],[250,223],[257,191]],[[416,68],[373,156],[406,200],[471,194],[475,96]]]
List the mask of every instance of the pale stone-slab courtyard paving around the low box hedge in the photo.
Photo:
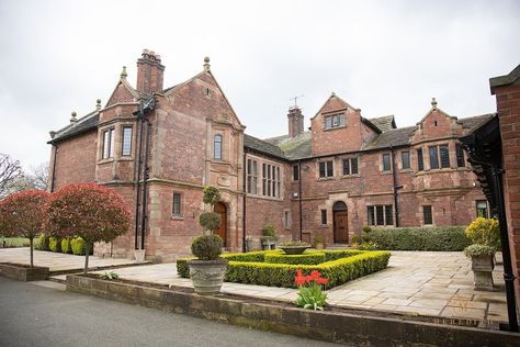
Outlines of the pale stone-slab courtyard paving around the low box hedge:
[[[179,278],[174,264],[114,271],[129,280],[192,287],[190,279]],[[497,266],[497,291],[475,291],[471,261],[462,251],[393,251],[387,269],[329,290],[328,303],[498,324],[507,322],[502,273]],[[297,295],[294,289],[240,283],[224,283],[223,292],[279,301],[294,301]]]

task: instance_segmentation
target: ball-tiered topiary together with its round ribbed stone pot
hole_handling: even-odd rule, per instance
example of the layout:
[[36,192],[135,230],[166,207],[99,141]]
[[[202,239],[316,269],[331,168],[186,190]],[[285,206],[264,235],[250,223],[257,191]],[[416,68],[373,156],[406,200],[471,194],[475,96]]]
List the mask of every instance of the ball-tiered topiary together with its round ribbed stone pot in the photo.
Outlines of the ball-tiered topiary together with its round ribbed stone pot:
[[205,186],[203,192],[203,200],[211,205],[211,212],[202,213],[199,219],[205,235],[193,239],[191,251],[196,259],[189,260],[188,266],[195,293],[212,295],[221,292],[228,260],[221,258],[222,238],[213,235],[213,231],[221,225],[221,216],[213,212],[213,206],[221,199],[221,193],[213,186]]

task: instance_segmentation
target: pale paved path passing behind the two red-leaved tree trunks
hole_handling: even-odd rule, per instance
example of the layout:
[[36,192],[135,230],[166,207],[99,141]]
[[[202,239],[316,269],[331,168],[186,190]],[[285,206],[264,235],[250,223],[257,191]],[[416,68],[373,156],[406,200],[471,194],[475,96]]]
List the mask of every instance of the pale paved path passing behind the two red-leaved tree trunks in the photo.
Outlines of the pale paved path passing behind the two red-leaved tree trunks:
[[[0,262],[30,264],[30,248],[0,248]],[[133,265],[135,260],[89,257],[89,268]],[[34,250],[34,265],[49,267],[53,271],[82,270],[84,256],[75,256],[55,251]]]

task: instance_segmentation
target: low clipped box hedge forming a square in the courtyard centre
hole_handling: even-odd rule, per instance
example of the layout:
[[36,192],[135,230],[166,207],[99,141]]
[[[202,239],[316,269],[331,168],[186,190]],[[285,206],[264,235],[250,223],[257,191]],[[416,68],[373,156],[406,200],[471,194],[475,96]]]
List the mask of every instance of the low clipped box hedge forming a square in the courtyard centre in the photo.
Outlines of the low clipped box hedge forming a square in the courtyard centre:
[[[291,265],[264,262],[265,257],[280,254],[280,250],[252,251],[244,254],[223,254],[229,260],[226,270],[226,282],[248,283],[271,287],[296,288],[294,278],[296,270],[309,275],[319,271],[329,282],[326,288],[343,284],[353,279],[383,270],[388,265],[389,251],[363,250],[324,250],[325,262],[318,265]],[[309,251],[308,254],[313,254]],[[269,255],[269,256],[268,256]],[[188,278],[189,259],[177,260],[179,276]]]

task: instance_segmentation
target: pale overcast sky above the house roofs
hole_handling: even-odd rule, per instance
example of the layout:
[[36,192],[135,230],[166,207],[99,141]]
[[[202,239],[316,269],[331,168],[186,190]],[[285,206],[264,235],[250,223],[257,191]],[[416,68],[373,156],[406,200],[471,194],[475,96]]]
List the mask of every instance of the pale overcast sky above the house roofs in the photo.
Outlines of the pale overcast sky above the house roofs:
[[47,161],[48,131],[104,102],[122,66],[135,86],[143,48],[165,87],[204,56],[246,132],[305,127],[334,91],[365,117],[417,123],[436,97],[456,116],[494,112],[490,77],[520,64],[520,1],[0,0],[0,153]]

